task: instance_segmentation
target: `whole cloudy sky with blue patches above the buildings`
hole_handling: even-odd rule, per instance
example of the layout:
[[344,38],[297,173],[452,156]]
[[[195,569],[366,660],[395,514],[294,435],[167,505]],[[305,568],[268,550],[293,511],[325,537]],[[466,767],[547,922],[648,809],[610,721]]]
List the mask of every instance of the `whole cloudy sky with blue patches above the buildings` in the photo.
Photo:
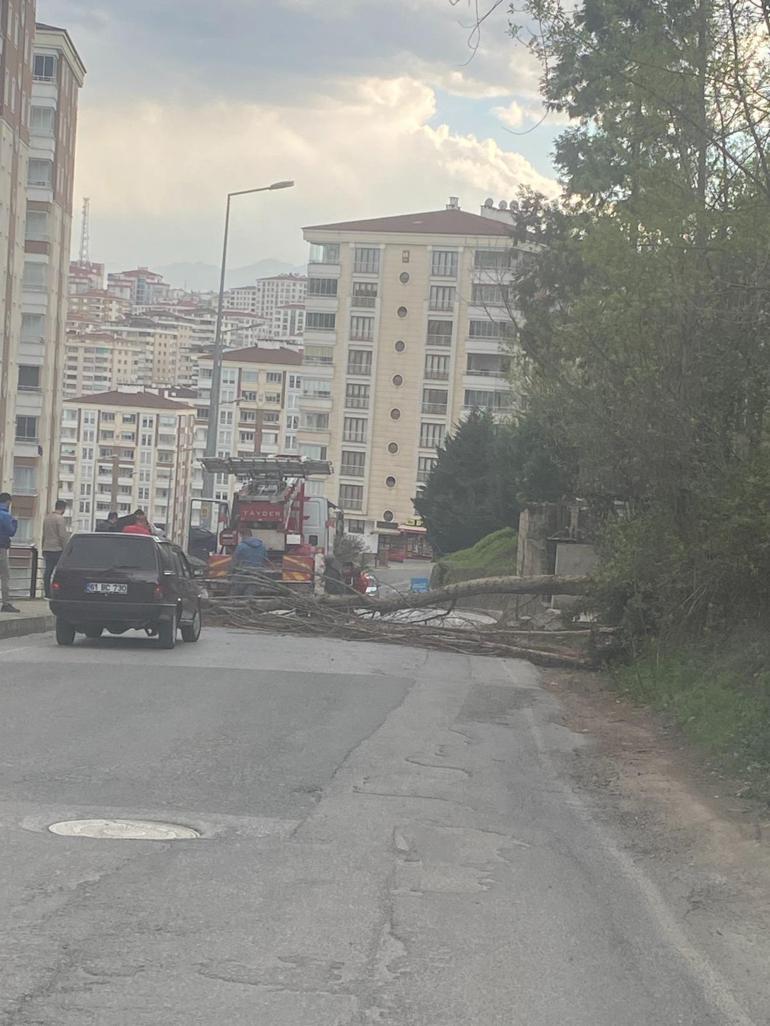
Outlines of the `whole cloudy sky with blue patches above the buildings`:
[[[480,0],[482,3],[485,0]],[[38,0],[86,68],[76,207],[112,266],[302,264],[302,226],[475,211],[555,189],[561,126],[501,7],[472,60],[468,0]],[[75,218],[79,231],[79,214]]]

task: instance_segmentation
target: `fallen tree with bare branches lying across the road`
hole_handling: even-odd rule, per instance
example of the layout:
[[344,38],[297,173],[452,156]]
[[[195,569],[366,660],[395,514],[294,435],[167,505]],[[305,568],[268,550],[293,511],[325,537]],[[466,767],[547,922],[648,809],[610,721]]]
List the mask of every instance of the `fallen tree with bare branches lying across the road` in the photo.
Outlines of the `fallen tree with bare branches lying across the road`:
[[[248,596],[223,596],[209,603],[208,616],[224,626],[283,634],[332,636],[354,641],[380,641],[440,648],[468,655],[526,659],[540,666],[585,668],[591,665],[586,645],[591,629],[560,631],[557,650],[533,647],[532,631],[516,630],[493,618],[478,623],[455,611],[460,599],[475,595],[581,595],[588,578],[501,577],[463,581],[428,592],[395,592],[385,598],[348,589],[342,595],[314,596],[281,582],[255,575]],[[425,610],[405,620],[398,614]],[[547,635],[549,632],[542,632]],[[555,640],[555,634],[553,635]]]

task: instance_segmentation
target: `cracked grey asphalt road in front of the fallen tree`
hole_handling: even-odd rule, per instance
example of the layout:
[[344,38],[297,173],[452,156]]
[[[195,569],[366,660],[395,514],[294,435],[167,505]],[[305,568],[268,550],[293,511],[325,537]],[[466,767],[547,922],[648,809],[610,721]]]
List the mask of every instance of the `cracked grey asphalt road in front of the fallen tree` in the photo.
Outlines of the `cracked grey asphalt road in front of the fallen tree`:
[[[521,663],[1,642],[0,1022],[766,1022],[573,790],[556,714]],[[47,830],[92,817],[202,836]]]

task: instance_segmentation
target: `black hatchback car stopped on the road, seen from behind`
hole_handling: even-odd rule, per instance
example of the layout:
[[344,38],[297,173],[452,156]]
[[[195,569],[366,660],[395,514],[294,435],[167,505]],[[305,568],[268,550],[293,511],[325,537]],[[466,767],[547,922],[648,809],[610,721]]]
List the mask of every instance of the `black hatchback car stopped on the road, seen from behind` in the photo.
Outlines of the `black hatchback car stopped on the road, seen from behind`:
[[172,648],[200,637],[202,582],[177,545],[148,535],[73,535],[51,581],[56,641],[146,631]]

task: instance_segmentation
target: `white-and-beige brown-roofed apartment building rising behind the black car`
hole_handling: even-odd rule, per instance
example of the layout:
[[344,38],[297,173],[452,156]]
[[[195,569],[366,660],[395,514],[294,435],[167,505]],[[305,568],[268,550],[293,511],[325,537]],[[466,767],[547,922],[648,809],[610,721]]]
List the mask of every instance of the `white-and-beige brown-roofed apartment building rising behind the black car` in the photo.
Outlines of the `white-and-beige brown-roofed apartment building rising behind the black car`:
[[110,391],[67,399],[59,496],[74,530],[92,530],[110,510],[142,508],[179,544],[187,542],[195,408],[152,392]]

